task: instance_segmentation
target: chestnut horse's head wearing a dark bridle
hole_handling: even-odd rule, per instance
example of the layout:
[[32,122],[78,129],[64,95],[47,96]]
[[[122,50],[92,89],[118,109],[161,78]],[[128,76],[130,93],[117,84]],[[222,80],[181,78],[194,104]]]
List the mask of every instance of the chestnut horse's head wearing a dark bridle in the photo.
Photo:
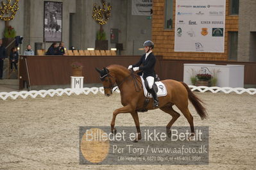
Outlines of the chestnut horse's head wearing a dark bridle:
[[99,68],[95,68],[97,72],[99,72],[99,79],[101,79],[105,96],[110,97],[112,95],[112,89],[115,84],[115,77],[110,75],[108,68],[103,68],[99,70]]

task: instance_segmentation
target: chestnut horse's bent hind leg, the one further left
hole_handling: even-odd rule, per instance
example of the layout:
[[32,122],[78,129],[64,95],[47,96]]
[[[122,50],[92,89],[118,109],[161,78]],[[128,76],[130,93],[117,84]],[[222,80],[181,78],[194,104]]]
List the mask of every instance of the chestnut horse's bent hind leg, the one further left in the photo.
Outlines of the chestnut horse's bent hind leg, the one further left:
[[166,126],[166,134],[168,135],[168,137],[170,137],[171,136],[170,128],[173,125],[173,123],[175,123],[175,121],[178,119],[178,117],[180,117],[180,113],[176,112],[173,109],[173,105],[171,105],[171,104],[165,105],[164,107],[160,107],[160,109],[164,112],[167,112],[168,114],[170,114],[173,117],[171,119],[171,121],[169,121],[169,123]]

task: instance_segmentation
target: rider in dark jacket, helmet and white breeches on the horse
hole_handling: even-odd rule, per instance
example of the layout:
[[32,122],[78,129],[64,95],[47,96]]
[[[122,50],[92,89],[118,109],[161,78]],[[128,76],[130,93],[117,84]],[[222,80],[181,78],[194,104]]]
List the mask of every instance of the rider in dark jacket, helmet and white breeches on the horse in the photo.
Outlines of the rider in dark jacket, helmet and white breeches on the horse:
[[[154,98],[153,107],[158,107],[157,92],[155,91],[154,88],[152,88],[155,81],[154,68],[155,68],[155,62],[156,62],[156,58],[152,52],[152,49],[154,48],[154,43],[151,42],[150,40],[147,40],[146,42],[144,42],[143,46],[146,54],[141,56],[141,59],[138,63],[136,63],[135,65],[128,66],[128,69],[132,68],[134,72],[136,72],[137,70],[142,71],[143,78],[144,79],[146,78],[146,81],[148,81],[148,86],[150,89],[149,92],[152,94]],[[141,64],[143,66],[141,66]]]

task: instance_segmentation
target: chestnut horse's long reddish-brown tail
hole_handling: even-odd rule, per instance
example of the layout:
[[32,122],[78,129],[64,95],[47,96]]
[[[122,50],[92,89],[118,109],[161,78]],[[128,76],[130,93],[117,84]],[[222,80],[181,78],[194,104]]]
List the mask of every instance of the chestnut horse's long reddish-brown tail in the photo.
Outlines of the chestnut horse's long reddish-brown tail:
[[201,117],[201,119],[203,120],[203,119],[207,118],[206,109],[202,105],[204,103],[201,101],[200,98],[198,98],[198,97],[196,97],[196,95],[194,95],[194,93],[191,91],[189,86],[187,86],[187,84],[185,84],[185,82],[181,82],[181,83],[187,89],[187,93],[189,95],[189,100],[191,101],[192,105],[194,105],[194,108],[196,109],[196,112],[198,112],[198,114]]

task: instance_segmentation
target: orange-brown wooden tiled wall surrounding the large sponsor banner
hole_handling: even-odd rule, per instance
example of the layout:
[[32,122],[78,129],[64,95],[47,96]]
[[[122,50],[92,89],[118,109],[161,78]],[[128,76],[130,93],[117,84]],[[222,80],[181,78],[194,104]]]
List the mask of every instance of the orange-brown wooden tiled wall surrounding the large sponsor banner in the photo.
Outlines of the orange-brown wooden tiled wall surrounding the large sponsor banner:
[[153,1],[152,41],[154,54],[164,59],[194,59],[207,61],[228,60],[228,31],[238,31],[238,16],[229,15],[229,0],[226,0],[225,52],[175,52],[175,2],[173,0],[173,29],[164,29],[165,1]]

